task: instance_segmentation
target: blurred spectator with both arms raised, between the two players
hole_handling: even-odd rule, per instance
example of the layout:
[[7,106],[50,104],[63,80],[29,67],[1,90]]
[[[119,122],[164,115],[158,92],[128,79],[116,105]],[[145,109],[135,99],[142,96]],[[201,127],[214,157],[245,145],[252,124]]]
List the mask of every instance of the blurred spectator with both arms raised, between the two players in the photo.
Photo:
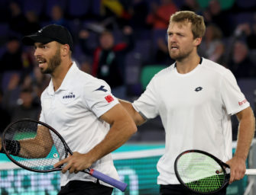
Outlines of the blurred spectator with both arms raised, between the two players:
[[134,38],[131,27],[123,29],[125,43],[115,44],[113,34],[105,30],[99,36],[99,46],[90,48],[87,40],[89,31],[81,30],[80,46],[84,53],[93,55],[92,75],[101,78],[112,88],[112,94],[125,97],[125,56],[134,48]]

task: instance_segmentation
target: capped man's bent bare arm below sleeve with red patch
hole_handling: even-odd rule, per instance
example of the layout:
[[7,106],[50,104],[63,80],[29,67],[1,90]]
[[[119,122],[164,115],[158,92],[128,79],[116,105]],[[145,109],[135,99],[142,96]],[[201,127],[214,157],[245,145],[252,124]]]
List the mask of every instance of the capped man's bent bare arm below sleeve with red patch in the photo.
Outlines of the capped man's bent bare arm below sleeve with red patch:
[[105,139],[86,154],[73,152],[73,155],[59,161],[54,167],[66,163],[62,170],[63,173],[66,173],[66,171],[77,173],[78,171],[85,170],[95,161],[118,149],[137,131],[134,121],[121,104],[116,104],[112,109],[104,113],[100,120],[104,120],[111,125]]

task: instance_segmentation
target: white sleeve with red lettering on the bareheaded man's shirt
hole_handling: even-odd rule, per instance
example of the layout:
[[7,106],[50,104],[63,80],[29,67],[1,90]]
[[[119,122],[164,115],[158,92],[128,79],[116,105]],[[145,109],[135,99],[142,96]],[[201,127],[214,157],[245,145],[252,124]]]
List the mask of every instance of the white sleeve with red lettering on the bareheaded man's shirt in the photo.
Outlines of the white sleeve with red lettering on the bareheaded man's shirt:
[[245,95],[241,92],[231,71],[227,71],[222,78],[222,101],[228,114],[235,114],[250,106]]

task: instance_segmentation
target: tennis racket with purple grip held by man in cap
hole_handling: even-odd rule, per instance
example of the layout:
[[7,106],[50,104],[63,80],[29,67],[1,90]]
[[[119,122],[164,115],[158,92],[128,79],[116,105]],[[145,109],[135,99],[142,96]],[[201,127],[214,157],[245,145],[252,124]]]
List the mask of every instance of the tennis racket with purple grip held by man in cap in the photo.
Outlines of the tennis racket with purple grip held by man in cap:
[[[60,133],[46,123],[32,119],[21,119],[9,124],[2,133],[2,149],[21,168],[43,173],[61,171],[63,168],[54,168],[53,165],[69,154],[73,155]],[[122,181],[92,168],[83,172],[119,190],[125,191],[127,187]]]

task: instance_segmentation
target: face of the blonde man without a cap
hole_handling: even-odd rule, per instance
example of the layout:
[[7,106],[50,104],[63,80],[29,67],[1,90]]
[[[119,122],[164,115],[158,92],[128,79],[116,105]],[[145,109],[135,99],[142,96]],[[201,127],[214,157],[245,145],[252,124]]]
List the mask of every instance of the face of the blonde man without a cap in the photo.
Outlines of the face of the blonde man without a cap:
[[191,53],[196,52],[199,38],[194,39],[191,22],[171,22],[168,30],[168,49],[170,57],[174,60],[186,59]]

